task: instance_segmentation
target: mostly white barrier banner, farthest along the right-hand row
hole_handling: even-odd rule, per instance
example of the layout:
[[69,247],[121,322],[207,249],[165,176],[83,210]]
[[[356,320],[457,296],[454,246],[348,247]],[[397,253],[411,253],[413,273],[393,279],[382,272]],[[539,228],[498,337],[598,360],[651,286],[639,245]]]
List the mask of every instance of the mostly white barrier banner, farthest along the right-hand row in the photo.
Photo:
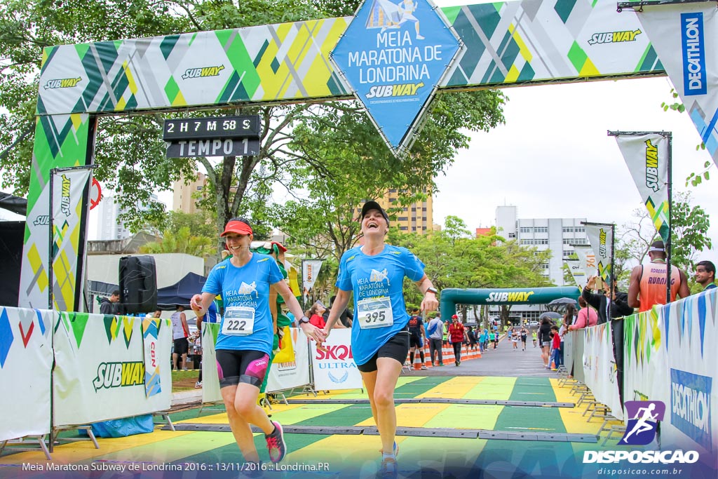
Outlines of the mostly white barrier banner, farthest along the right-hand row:
[[584,380],[596,400],[610,407],[616,419],[623,419],[611,335],[610,322],[586,328]]

